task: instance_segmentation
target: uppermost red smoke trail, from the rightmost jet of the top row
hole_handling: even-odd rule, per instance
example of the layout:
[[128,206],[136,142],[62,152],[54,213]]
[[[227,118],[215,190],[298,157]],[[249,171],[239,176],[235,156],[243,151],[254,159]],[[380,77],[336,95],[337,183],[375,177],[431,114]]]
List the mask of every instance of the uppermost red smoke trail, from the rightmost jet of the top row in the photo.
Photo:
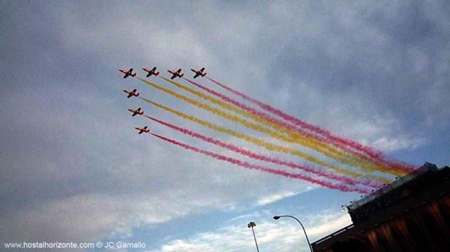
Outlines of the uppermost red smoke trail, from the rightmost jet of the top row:
[[378,162],[378,164],[380,164],[380,163],[384,164],[385,166],[392,168],[394,170],[397,170],[397,171],[409,173],[414,170],[414,167],[409,164],[401,163],[398,161],[393,162],[393,161],[387,160],[387,158],[384,157],[383,154],[381,152],[379,152],[378,150],[374,150],[371,147],[363,146],[359,142],[354,142],[354,141],[346,139],[346,138],[340,138],[340,137],[334,136],[330,133],[330,131],[327,131],[327,130],[319,128],[317,126],[308,124],[305,121],[297,119],[296,117],[293,117],[289,114],[282,112],[281,110],[277,110],[276,108],[271,107],[271,105],[260,102],[259,100],[251,98],[248,95],[245,95],[244,93],[240,93],[239,91],[236,91],[233,88],[230,88],[229,86],[221,84],[219,81],[211,79],[210,77],[206,77],[206,78],[209,79],[210,81],[214,82],[214,84],[217,84],[221,88],[224,88],[227,91],[229,91],[235,95],[238,95],[240,98],[243,98],[244,100],[247,100],[248,102],[252,102],[253,104],[257,105],[258,107],[261,107],[263,110],[271,112],[272,114],[276,114],[278,117],[281,117],[281,118],[285,119],[286,121],[289,121],[292,124],[295,124],[297,126],[305,128],[313,133],[319,134],[319,135],[316,135],[316,137],[314,137],[317,140],[320,140],[323,142],[328,142],[328,143],[334,145],[335,147],[339,147],[342,150],[350,152],[350,150],[352,150],[352,149],[344,147],[344,146],[348,146],[350,148],[353,148],[356,151],[359,151],[359,152],[362,152],[362,153],[368,155],[368,157],[371,157],[371,159]]

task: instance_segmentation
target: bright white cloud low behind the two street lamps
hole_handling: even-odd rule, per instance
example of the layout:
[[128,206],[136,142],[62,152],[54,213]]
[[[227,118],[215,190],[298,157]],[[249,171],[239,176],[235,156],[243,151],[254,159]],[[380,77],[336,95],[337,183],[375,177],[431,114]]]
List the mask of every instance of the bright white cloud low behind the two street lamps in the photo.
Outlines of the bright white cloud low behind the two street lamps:
[[[268,219],[270,213],[263,216],[264,219]],[[193,234],[188,239],[169,241],[156,251],[251,251],[255,248],[255,241],[253,241],[252,232],[246,227],[245,221],[262,218],[262,215],[253,213],[242,217],[247,219],[236,218],[233,224],[226,227]],[[319,213],[318,215],[304,216],[303,224],[309,240],[312,242],[350,223],[347,214]],[[278,221],[257,221],[255,233],[262,251],[293,251],[299,248],[302,251],[309,251],[300,225],[290,218],[282,218]]]

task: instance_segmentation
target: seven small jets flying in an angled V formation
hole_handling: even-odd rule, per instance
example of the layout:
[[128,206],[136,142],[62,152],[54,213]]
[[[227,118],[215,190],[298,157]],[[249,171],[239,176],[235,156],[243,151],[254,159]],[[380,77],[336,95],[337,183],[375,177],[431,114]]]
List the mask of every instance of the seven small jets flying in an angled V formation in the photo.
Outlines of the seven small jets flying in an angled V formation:
[[[152,69],[143,67],[142,68],[143,71],[147,72],[146,77],[149,78],[152,75],[154,75],[155,77],[158,76],[160,74],[160,72],[157,72],[156,67],[153,67]],[[191,68],[191,71],[194,72],[194,76],[193,78],[197,78],[197,77],[205,77],[206,76],[206,72],[205,72],[205,67],[202,67],[200,70]],[[124,79],[127,79],[128,77],[136,77],[136,72],[133,72],[133,68],[130,69],[119,69],[119,72],[122,72],[122,74],[124,74]],[[172,77],[170,77],[170,79],[175,79],[176,77],[178,78],[183,78],[184,74],[181,73],[181,68],[179,68],[178,70],[174,71],[174,70],[167,70],[167,72],[169,72],[170,74],[172,74]],[[131,97],[138,97],[139,93],[137,93],[137,89],[133,89],[132,91],[124,89],[124,92],[127,93],[127,98],[131,98]],[[143,110],[141,109],[141,107],[138,107],[137,109],[129,109],[129,112],[131,112],[131,117],[135,117],[136,115],[143,115]],[[150,130],[147,128],[147,126],[144,126],[143,128],[141,127],[136,127],[136,131],[139,131],[139,134],[142,133],[149,133]]]

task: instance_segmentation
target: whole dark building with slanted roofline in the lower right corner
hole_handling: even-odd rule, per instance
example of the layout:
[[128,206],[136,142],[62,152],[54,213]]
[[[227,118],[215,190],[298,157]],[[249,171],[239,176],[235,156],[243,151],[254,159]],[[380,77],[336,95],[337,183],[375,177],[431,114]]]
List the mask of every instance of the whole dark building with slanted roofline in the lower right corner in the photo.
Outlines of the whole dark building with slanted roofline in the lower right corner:
[[450,168],[425,163],[347,206],[352,225],[314,252],[450,251]]

